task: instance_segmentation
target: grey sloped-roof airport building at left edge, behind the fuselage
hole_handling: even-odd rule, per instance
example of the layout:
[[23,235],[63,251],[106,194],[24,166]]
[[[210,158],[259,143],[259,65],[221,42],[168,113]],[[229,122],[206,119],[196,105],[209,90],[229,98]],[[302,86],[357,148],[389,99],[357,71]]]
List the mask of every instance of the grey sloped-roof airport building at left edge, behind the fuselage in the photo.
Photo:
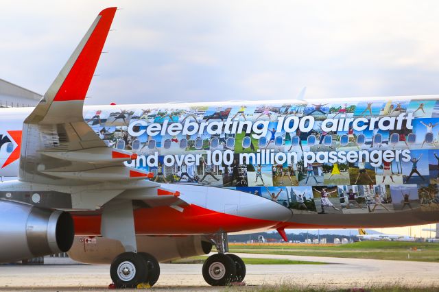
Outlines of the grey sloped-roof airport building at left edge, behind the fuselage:
[[36,106],[42,95],[0,79],[0,108]]

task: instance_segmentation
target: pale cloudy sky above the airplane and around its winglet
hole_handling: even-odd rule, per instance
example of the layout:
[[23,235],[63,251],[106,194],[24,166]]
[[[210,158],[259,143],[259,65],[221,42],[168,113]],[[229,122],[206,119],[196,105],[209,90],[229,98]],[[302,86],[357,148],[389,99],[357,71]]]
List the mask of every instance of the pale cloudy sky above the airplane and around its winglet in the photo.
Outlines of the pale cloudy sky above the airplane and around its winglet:
[[117,6],[86,104],[439,93],[439,1],[17,1],[0,78],[44,94]]

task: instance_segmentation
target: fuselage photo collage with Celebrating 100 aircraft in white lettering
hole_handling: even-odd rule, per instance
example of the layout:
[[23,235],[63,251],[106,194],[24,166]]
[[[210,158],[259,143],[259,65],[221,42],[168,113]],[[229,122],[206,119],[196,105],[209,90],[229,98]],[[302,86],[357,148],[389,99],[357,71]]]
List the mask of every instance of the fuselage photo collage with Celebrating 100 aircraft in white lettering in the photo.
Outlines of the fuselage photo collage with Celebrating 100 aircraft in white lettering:
[[230,104],[89,107],[84,119],[155,182],[230,188],[296,214],[439,210],[439,101]]

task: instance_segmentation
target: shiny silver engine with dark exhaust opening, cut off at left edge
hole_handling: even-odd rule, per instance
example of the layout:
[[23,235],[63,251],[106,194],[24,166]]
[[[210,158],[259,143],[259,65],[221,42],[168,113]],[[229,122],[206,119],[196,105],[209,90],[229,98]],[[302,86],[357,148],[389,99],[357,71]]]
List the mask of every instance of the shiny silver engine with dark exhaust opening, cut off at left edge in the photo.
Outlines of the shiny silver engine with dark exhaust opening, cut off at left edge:
[[68,212],[0,201],[0,263],[67,252],[73,238]]

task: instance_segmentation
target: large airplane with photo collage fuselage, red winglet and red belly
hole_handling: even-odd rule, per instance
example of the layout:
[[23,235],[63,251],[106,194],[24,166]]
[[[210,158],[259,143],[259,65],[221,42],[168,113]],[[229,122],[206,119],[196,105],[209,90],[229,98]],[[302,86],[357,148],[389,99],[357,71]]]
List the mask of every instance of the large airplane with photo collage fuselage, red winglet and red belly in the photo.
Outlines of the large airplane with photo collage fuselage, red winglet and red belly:
[[84,106],[116,10],[35,108],[0,108],[0,263],[69,252],[133,288],[215,245],[224,286],[228,234],[438,221],[437,96]]

